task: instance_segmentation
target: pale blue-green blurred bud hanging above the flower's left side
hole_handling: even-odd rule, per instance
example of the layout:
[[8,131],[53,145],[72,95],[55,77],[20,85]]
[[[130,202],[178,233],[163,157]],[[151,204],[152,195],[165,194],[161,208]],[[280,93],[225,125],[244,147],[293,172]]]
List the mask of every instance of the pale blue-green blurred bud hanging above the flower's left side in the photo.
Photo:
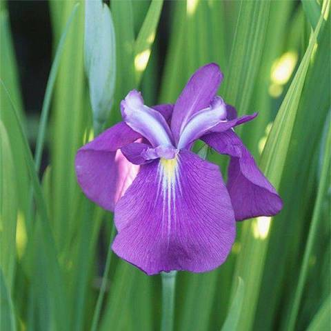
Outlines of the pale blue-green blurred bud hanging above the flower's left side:
[[115,33],[110,9],[99,1],[86,1],[85,67],[90,86],[94,127],[108,119],[114,101],[116,74]]

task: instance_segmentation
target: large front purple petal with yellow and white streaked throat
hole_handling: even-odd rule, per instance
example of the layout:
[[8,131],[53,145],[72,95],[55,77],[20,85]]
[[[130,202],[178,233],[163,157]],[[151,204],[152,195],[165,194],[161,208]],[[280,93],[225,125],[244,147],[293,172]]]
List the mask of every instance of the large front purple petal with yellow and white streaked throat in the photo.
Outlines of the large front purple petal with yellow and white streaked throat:
[[217,268],[235,237],[219,168],[188,150],[142,165],[117,203],[114,221],[114,252],[147,274]]

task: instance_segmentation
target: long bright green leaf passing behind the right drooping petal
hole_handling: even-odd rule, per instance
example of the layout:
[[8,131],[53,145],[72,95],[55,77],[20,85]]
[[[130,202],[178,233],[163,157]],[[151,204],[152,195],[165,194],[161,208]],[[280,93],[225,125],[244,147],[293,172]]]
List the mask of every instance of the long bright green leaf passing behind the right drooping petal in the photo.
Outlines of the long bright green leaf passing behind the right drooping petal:
[[[279,188],[279,183],[283,175],[285,158],[288,154],[288,146],[292,137],[294,121],[297,117],[297,110],[303,89],[303,83],[305,81],[305,75],[308,71],[308,66],[314,50],[314,44],[317,41],[322,20],[323,17],[320,18],[319,25],[314,31],[314,34],[312,34],[308,49],[306,50],[299,69],[288,89],[288,93],[281,104],[281,108],[274,121],[268,140],[265,143],[265,148],[261,157],[261,169],[277,189]],[[256,313],[257,299],[260,292],[261,277],[269,237],[268,232],[266,237],[257,237],[256,229],[258,227],[258,221],[261,222],[263,219],[254,219],[254,221],[246,221],[243,224],[241,243],[243,245],[243,250],[237,259],[235,275],[236,277],[243,278],[243,281],[245,281],[246,284],[250,284],[250,286],[247,288],[247,291],[245,291],[243,314],[241,314],[238,330],[250,330],[252,328],[254,315]],[[270,225],[271,223],[269,226]],[[254,265],[254,268],[252,268],[252,265]],[[234,293],[234,288],[232,288],[232,293]]]

